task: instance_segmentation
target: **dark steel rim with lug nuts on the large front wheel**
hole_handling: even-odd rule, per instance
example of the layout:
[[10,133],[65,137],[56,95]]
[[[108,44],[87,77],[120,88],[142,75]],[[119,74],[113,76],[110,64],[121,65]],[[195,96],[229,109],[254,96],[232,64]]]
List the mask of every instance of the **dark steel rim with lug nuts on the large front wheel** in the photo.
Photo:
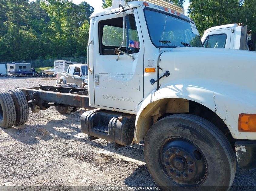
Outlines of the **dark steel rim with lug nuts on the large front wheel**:
[[165,140],[158,160],[166,176],[178,186],[196,187],[207,177],[208,165],[202,151],[181,137]]

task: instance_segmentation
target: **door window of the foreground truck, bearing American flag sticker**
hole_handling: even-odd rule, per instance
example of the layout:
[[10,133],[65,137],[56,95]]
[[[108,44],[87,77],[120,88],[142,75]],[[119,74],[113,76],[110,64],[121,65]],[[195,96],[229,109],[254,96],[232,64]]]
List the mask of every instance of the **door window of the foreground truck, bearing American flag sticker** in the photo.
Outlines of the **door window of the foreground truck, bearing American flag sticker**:
[[123,42],[123,17],[108,19],[99,23],[99,46],[101,55],[116,55],[115,48],[131,54],[139,51],[140,43],[133,14],[125,17],[125,41]]

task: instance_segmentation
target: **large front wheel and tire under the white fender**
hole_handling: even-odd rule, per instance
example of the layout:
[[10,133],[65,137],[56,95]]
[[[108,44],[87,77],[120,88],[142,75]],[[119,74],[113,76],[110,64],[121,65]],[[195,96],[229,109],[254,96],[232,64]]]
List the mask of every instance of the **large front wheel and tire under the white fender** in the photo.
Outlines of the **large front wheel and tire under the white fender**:
[[[146,166],[163,190],[228,190],[236,163],[230,143],[199,116],[175,114],[156,122],[144,143]],[[171,187],[170,187],[171,186]]]

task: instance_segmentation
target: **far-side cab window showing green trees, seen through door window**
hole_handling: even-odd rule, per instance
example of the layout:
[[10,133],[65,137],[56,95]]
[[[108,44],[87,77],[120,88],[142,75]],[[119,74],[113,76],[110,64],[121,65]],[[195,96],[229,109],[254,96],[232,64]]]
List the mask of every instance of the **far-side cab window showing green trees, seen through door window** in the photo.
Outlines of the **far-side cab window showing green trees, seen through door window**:
[[102,44],[120,46],[123,41],[123,28],[105,25],[103,27]]

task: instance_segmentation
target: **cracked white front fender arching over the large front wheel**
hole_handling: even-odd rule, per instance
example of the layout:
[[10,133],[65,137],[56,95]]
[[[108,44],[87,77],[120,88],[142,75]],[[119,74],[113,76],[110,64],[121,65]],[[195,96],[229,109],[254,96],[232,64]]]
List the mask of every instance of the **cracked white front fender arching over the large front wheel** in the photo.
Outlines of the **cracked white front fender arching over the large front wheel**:
[[[214,84],[208,82],[209,88],[193,85],[168,85],[158,91],[154,90],[142,102],[135,121],[135,141],[145,138],[146,132],[152,124],[145,119],[143,113],[152,109],[151,104],[165,98],[182,98],[191,100],[212,110],[227,125],[233,138],[256,139],[255,132],[239,132],[238,116],[240,113],[256,113],[255,92],[248,92],[230,84]],[[217,91],[218,90],[218,91]]]

